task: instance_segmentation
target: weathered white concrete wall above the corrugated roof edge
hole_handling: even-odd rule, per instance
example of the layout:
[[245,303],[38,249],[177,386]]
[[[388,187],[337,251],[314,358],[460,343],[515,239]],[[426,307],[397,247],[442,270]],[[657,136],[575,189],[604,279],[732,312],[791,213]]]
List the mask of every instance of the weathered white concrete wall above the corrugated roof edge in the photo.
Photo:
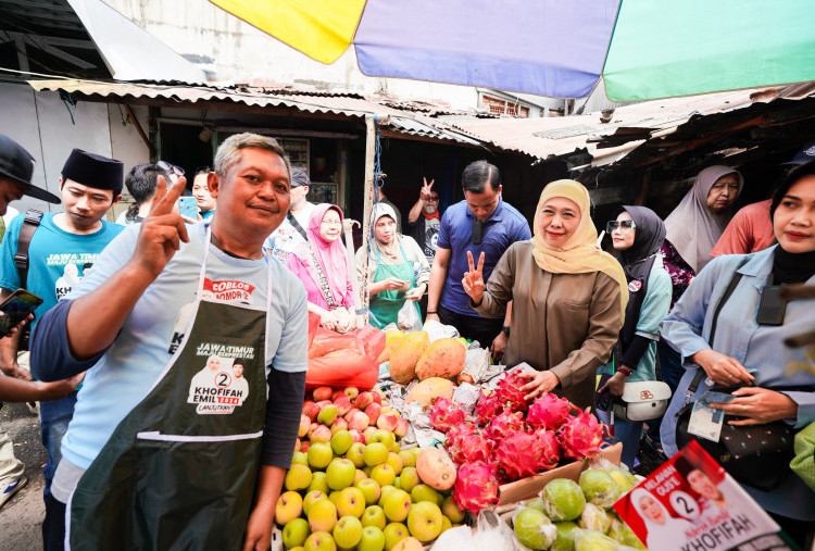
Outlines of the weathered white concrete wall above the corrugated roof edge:
[[474,87],[363,75],[353,48],[324,65],[204,0],[104,0],[180,54],[212,60],[217,80],[253,78],[324,90],[389,93],[475,108]]

